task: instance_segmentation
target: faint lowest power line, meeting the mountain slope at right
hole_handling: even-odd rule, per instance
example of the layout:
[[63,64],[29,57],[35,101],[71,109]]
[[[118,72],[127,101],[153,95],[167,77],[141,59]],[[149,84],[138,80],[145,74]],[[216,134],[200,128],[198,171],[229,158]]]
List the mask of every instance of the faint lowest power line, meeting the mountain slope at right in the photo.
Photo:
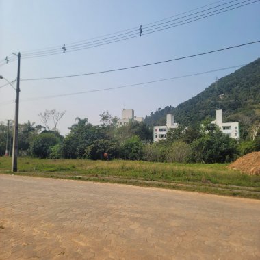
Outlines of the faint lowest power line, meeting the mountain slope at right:
[[[67,93],[67,94],[38,96],[38,97],[22,99],[21,101],[23,101],[23,102],[38,101],[38,100],[42,100],[42,99],[53,99],[53,98],[63,97],[63,96],[74,96],[74,95],[78,95],[78,94],[86,94],[86,93],[92,93],[92,92],[103,92],[103,91],[107,91],[107,90],[116,90],[116,89],[120,89],[120,88],[129,88],[129,87],[134,87],[134,86],[142,86],[142,85],[147,85],[147,84],[151,84],[151,83],[158,83],[158,82],[162,82],[162,81],[170,81],[170,80],[174,80],[174,79],[181,79],[181,78],[185,78],[185,77],[192,77],[192,76],[196,76],[196,75],[203,75],[203,74],[207,74],[207,73],[215,73],[217,71],[229,70],[229,69],[232,69],[232,68],[239,68],[239,67],[242,67],[242,66],[244,66],[244,64],[236,65],[236,66],[229,66],[229,67],[225,67],[225,68],[217,68],[215,70],[207,70],[207,71],[203,71],[203,72],[200,72],[200,73],[181,75],[181,76],[177,76],[177,77],[170,77],[170,78],[165,78],[165,79],[157,79],[157,80],[154,80],[154,81],[146,81],[146,82],[141,82],[141,83],[117,86],[117,87],[112,87],[112,88],[101,88],[101,89],[98,89],[98,90],[86,90],[86,91],[81,91],[81,92],[71,92],[71,93]],[[5,104],[13,103],[13,102],[14,101],[5,101],[3,103],[0,103],[0,105],[5,105]]]

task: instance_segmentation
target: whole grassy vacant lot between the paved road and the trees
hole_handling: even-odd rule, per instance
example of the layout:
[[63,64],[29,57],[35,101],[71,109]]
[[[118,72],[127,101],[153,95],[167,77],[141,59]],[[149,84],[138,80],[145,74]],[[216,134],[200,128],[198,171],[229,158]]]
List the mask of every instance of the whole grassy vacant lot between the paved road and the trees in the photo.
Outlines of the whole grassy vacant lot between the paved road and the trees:
[[[0,173],[12,174],[11,158],[0,157]],[[146,161],[90,161],[19,158],[16,174],[165,187],[260,199],[260,176],[224,164],[164,164]]]

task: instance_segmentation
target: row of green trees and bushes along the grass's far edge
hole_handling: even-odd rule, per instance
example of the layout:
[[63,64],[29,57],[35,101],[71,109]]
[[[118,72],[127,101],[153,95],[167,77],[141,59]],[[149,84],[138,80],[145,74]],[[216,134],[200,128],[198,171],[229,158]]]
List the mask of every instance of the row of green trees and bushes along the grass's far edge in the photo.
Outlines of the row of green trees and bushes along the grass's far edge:
[[[224,163],[260,150],[260,136],[248,135],[239,143],[224,135],[216,125],[184,127],[168,131],[167,139],[153,143],[153,129],[144,122],[131,122],[117,127],[118,118],[108,112],[101,114],[101,125],[95,126],[87,118],[76,118],[64,137],[57,131],[43,129],[27,122],[19,125],[20,156],[49,159],[128,159],[161,162]],[[9,136],[9,140],[7,137]],[[0,155],[5,154],[6,142],[12,151],[12,125],[0,124]],[[9,148],[8,148],[9,149]]]

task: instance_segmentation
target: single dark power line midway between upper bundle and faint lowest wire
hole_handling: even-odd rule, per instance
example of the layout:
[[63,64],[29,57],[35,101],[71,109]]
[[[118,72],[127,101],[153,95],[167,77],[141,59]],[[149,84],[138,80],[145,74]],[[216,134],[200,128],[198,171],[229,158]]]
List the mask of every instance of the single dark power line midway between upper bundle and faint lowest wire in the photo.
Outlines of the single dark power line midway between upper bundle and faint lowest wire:
[[244,43],[244,44],[234,45],[234,46],[231,46],[231,47],[225,47],[225,48],[217,49],[217,50],[213,50],[213,51],[206,51],[206,52],[198,53],[198,54],[194,54],[194,55],[187,55],[187,56],[184,56],[184,57],[177,57],[177,58],[173,58],[173,59],[170,59],[170,60],[164,60],[164,61],[160,61],[160,62],[153,62],[153,63],[136,65],[136,66],[129,66],[129,67],[125,67],[125,68],[115,68],[115,69],[112,69],[112,70],[103,70],[103,71],[98,71],[98,72],[94,72],[94,73],[81,73],[81,74],[65,75],[65,76],[57,76],[57,77],[42,77],[42,78],[21,79],[21,81],[36,81],[36,80],[47,80],[47,79],[64,79],[64,78],[68,78],[68,77],[80,77],[80,76],[95,75],[95,74],[101,74],[101,73],[112,73],[112,72],[120,71],[120,70],[129,70],[129,69],[133,69],[133,68],[142,68],[142,67],[145,67],[145,66],[151,66],[151,65],[155,65],[155,64],[163,64],[163,63],[166,63],[166,62],[174,62],[176,60],[184,60],[184,59],[191,58],[191,57],[198,57],[198,56],[201,56],[201,55],[207,55],[209,53],[216,53],[216,52],[219,52],[219,51],[226,51],[228,49],[235,49],[235,48],[238,48],[238,47],[243,47],[243,46],[246,46],[246,45],[249,45],[249,44],[255,44],[255,43],[259,43],[259,42],[260,42],[260,40],[257,40],[255,42],[247,42],[247,43]]

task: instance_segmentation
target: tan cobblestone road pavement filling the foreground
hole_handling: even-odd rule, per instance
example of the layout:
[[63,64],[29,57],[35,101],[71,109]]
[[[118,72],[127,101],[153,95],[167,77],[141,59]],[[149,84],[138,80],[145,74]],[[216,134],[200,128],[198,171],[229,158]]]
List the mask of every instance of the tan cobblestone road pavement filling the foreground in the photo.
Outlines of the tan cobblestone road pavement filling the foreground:
[[0,174],[0,259],[260,259],[260,201]]

